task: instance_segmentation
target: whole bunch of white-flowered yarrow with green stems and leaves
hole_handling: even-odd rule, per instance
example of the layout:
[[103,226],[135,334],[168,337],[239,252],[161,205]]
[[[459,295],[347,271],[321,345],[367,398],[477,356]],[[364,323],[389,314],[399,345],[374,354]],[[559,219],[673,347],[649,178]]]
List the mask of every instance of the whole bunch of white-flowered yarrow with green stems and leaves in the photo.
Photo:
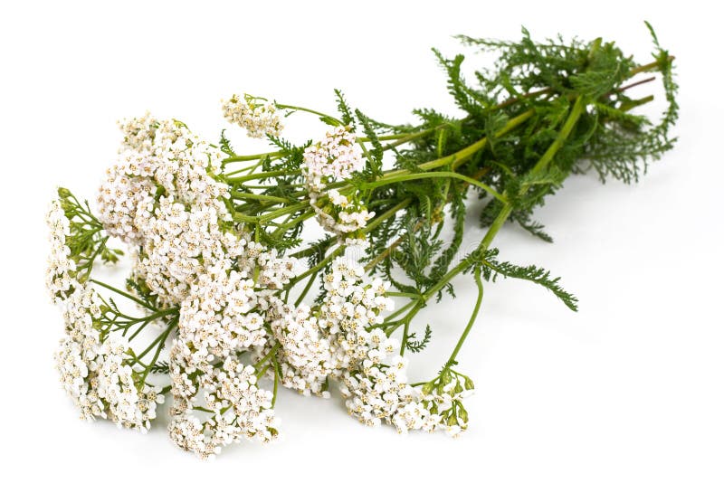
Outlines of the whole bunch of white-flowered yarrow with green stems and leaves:
[[[462,55],[434,51],[458,118],[417,109],[415,124],[386,124],[338,90],[334,115],[233,95],[224,118],[272,146],[253,155],[237,154],[224,131],[212,143],[176,119],[121,122],[95,207],[60,188],[47,215],[46,286],[65,328],[55,360],[81,418],[148,431],[170,400],[171,440],[209,458],[276,439],[286,387],[340,394],[367,426],[462,434],[474,384],[458,355],[484,286],[527,279],[576,310],[548,270],[501,261],[497,233],[510,222],[551,242],[533,219],[546,196],[590,170],[637,181],[672,148],[678,106],[673,57],[654,34],[648,63],[601,39],[461,39],[498,57],[472,86]],[[640,77],[649,72],[666,99],[658,120],[634,110],[653,99],[632,94],[655,79]],[[319,118],[326,134],[281,137],[295,113]],[[476,205],[487,232],[460,253]],[[310,223],[321,239],[305,238]],[[99,265],[124,251],[125,284],[101,281]],[[478,290],[471,316],[437,374],[412,377],[410,355],[434,327],[417,316],[454,296],[461,275]]]

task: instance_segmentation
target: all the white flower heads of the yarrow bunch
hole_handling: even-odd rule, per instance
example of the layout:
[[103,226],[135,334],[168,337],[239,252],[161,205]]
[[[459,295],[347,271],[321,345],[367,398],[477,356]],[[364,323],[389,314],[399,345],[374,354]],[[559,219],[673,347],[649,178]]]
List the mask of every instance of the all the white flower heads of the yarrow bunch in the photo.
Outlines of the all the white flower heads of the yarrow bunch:
[[[272,104],[264,108],[252,100],[232,98],[224,104],[226,117],[250,135],[281,128]],[[445,428],[452,434],[465,428],[466,378],[452,371],[449,380],[438,378],[422,390],[408,384],[399,341],[379,328],[383,311],[393,308],[386,297],[389,282],[367,281],[360,265],[338,258],[323,276],[325,296],[318,306],[282,301],[280,290],[297,274],[296,261],[253,242],[233,223],[229,188],[220,181],[221,153],[174,120],[147,115],[121,128],[119,161],[100,187],[99,220],[132,246],[138,285],[129,285],[157,309],[141,328],[172,314],[177,318],[167,322],[177,324],[177,334],[167,365],[156,365],[166,339],[157,339],[153,365],[140,364],[119,336],[116,316],[128,316],[74,279],[68,237],[79,228],[62,207],[71,209],[54,202],[47,215],[52,256],[46,284],[54,300],[64,302],[67,336],[56,362],[81,417],[148,430],[164,400],[146,382],[158,370],[171,380],[171,439],[202,458],[234,442],[265,442],[279,434],[274,393],[259,383],[262,375],[275,379],[275,391],[281,382],[322,397],[329,397],[329,381],[336,379],[350,414],[367,425],[385,421],[398,431]],[[348,244],[365,242],[375,213],[358,193],[323,190],[362,168],[356,141],[349,128],[337,128],[305,151],[302,168],[320,223]]]

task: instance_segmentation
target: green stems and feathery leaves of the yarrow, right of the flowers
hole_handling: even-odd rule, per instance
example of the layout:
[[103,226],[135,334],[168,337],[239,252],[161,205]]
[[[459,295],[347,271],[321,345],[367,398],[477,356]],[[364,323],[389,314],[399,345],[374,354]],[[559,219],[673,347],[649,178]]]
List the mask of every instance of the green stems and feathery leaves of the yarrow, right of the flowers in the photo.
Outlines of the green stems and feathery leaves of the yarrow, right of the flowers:
[[[658,159],[675,141],[669,136],[678,109],[673,57],[658,43],[654,61],[638,64],[614,43],[603,43],[602,39],[533,43],[525,33],[520,43],[468,37],[462,41],[500,52],[493,71],[475,72],[481,82],[479,90],[462,79],[462,55],[444,59],[436,52],[449,75],[452,96],[467,113],[464,118],[419,109],[415,114],[423,119],[421,124],[390,126],[367,118],[358,109],[353,112],[339,91],[340,118],[280,105],[318,115],[332,126],[357,126],[367,134],[357,141],[369,160],[368,172],[329,187],[353,187],[377,210],[365,228],[372,241],[366,251],[365,270],[370,274],[384,272],[400,290],[395,297],[408,300],[384,325],[388,333],[404,328],[402,354],[409,348],[408,329],[414,316],[431,298],[440,298],[443,290],[452,294],[450,282],[461,273],[473,272],[480,298],[481,277],[490,279],[491,272],[497,272],[543,284],[575,310],[576,298],[556,288],[556,282],[543,271],[530,267],[517,270],[510,263],[495,260],[497,251],[490,250],[495,236],[506,222],[513,222],[552,242],[543,227],[531,220],[531,214],[568,175],[594,169],[602,181],[614,177],[635,182],[645,173],[647,161]],[[639,98],[630,94],[633,88],[655,80],[652,72],[662,73],[668,101],[658,124],[631,112],[653,100],[651,94]],[[287,188],[301,183],[295,156],[300,147],[295,151],[280,139],[272,141],[281,149],[252,156],[229,153],[224,159],[227,166],[256,162],[233,171],[225,181],[232,186],[233,199],[243,200],[233,204],[234,220],[253,226],[267,245],[287,249],[298,241],[300,224],[313,217],[314,211],[304,199],[304,189]],[[382,170],[382,156],[387,151],[395,153],[395,168]],[[270,178],[274,180],[271,183]],[[268,185],[255,184],[262,180]],[[477,192],[479,203],[485,204],[481,223],[488,231],[475,251],[450,267],[462,242],[465,212],[472,206],[463,203],[471,189]],[[454,223],[454,238],[450,246],[440,250],[435,241],[446,222],[446,209]],[[285,295],[296,283],[308,279],[300,296],[303,298],[311,288],[309,280],[347,248],[326,238],[292,251],[292,257],[308,257],[310,269],[292,279]],[[394,269],[404,272],[407,279],[395,279]],[[479,306],[473,309],[450,363],[476,320]]]

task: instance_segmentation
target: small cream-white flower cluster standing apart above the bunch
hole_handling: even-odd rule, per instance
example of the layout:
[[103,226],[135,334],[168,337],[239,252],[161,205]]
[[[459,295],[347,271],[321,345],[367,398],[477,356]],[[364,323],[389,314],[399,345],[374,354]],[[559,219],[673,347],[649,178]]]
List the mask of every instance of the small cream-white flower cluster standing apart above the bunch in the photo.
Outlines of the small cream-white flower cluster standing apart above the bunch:
[[222,99],[224,118],[232,124],[245,128],[249,137],[279,136],[283,126],[273,102],[244,95],[243,99],[233,95]]

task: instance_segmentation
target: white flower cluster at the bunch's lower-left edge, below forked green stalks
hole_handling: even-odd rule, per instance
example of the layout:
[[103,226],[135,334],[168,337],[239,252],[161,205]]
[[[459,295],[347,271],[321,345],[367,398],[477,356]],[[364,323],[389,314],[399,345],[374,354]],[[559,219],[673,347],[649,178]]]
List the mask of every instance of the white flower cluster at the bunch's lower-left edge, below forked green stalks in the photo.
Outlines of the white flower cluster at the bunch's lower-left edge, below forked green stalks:
[[101,310],[93,289],[74,287],[63,310],[67,336],[55,355],[62,385],[82,419],[110,418],[119,427],[145,432],[164,396],[150,385],[138,390],[125,339],[102,336],[93,327]]

